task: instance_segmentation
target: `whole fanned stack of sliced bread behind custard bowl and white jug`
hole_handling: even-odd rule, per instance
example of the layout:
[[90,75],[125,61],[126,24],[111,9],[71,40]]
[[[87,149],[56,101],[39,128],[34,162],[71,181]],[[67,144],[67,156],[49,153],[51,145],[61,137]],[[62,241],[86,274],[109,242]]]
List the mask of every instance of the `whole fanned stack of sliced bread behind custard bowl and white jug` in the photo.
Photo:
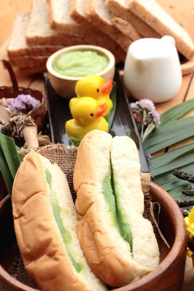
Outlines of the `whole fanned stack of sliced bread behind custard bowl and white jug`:
[[31,13],[19,13],[8,47],[12,65],[25,73],[46,70],[55,51],[97,45],[125,61],[129,45],[143,37],[171,35],[187,59],[194,56],[188,33],[154,0],[33,0]]

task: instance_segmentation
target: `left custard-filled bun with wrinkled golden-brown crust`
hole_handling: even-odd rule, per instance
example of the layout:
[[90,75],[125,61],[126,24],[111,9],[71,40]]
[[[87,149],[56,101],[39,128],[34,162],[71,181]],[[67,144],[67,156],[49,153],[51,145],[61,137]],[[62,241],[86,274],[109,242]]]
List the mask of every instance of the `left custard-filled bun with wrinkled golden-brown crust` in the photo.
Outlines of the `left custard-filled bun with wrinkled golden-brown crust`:
[[83,255],[75,206],[56,164],[31,150],[17,171],[12,205],[19,250],[40,290],[107,290]]

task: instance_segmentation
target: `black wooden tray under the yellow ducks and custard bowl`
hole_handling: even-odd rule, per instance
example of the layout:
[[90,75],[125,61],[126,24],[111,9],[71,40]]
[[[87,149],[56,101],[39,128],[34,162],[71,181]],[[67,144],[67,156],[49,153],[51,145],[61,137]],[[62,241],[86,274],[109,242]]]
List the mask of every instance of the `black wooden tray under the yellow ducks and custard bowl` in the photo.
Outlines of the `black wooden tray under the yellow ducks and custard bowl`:
[[[127,135],[134,140],[139,151],[141,172],[147,173],[149,172],[149,168],[144,149],[118,71],[115,72],[114,81],[117,83],[116,113],[110,133],[112,136]],[[48,76],[45,79],[45,88],[47,93],[51,142],[70,146],[72,143],[65,132],[65,122],[72,118],[69,110],[69,100],[57,95],[50,84]]]

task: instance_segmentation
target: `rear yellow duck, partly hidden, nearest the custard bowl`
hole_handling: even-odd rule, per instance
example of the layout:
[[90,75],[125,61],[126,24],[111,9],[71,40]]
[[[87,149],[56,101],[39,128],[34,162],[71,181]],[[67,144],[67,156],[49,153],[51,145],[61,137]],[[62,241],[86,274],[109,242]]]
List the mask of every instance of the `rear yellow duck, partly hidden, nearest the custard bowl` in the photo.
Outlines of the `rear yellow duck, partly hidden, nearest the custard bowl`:
[[77,97],[72,98],[69,102],[69,108],[71,109],[72,104],[77,98],[89,96],[96,99],[100,104],[107,104],[107,116],[109,115],[113,102],[110,99],[110,93],[113,87],[113,80],[104,81],[103,78],[97,75],[89,75],[83,77],[76,83],[76,95]]

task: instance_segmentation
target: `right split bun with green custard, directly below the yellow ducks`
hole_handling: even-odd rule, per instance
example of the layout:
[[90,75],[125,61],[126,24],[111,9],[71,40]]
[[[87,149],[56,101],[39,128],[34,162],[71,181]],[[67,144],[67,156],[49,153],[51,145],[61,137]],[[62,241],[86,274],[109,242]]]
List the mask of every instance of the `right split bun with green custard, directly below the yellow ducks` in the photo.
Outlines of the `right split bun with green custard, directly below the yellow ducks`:
[[[111,163],[116,207],[108,182]],[[143,218],[138,151],[129,137],[112,138],[100,130],[86,134],[78,148],[74,188],[81,248],[96,275],[119,287],[158,266],[158,243],[151,223]]]

